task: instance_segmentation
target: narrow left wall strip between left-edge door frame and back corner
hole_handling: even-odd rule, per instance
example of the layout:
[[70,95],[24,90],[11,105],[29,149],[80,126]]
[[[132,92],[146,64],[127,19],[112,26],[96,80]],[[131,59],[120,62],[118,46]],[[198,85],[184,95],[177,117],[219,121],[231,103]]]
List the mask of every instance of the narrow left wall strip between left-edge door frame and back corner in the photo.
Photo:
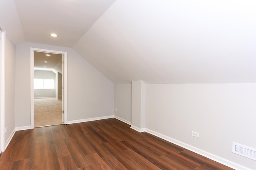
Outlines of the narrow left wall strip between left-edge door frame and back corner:
[[8,131],[5,134],[5,142],[15,128],[15,45],[6,34],[6,52],[5,52],[5,127]]

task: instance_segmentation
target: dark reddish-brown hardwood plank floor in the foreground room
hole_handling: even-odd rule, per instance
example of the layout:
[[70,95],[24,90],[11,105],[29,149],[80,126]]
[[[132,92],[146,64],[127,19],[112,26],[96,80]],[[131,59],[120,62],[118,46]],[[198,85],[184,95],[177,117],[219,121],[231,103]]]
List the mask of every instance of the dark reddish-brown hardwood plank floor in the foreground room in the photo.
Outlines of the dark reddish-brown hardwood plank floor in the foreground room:
[[17,131],[1,170],[231,170],[117,119]]

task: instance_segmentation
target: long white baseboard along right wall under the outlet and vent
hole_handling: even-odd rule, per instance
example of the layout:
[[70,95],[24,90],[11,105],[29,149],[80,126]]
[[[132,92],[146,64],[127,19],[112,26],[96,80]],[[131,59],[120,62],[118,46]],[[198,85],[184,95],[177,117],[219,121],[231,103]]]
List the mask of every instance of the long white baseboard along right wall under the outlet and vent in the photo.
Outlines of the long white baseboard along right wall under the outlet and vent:
[[[131,127],[131,128],[132,128],[132,127]],[[136,129],[134,129],[134,130],[136,130]],[[242,165],[237,164],[237,163],[235,163],[235,162],[232,162],[232,161],[230,161],[230,160],[226,160],[226,159],[224,159],[224,158],[221,158],[220,156],[216,156],[216,155],[211,154],[211,153],[209,153],[209,152],[206,152],[206,151],[204,151],[204,150],[198,149],[198,148],[196,148],[196,147],[193,147],[193,146],[191,146],[191,145],[188,145],[188,144],[186,144],[186,143],[183,143],[183,142],[181,142],[181,141],[178,141],[178,140],[176,140],[176,139],[173,139],[173,138],[168,137],[168,136],[166,136],[166,135],[163,135],[163,134],[161,134],[161,133],[152,131],[152,130],[150,130],[150,129],[145,129],[145,131],[146,131],[147,133],[150,133],[150,134],[156,136],[156,137],[160,137],[161,139],[164,139],[164,140],[166,140],[166,141],[168,141],[168,142],[170,142],[170,143],[173,143],[173,144],[175,144],[175,145],[178,145],[178,146],[180,146],[180,147],[183,147],[183,148],[185,148],[185,149],[188,149],[188,150],[190,150],[190,151],[192,151],[192,152],[195,152],[195,153],[197,153],[197,154],[200,154],[200,155],[202,155],[202,156],[204,156],[204,157],[206,157],[206,158],[209,158],[209,159],[211,159],[211,160],[214,160],[214,161],[216,161],[216,162],[219,162],[219,163],[221,163],[221,164],[224,164],[224,165],[226,165],[226,166],[228,166],[228,167],[230,167],[230,168],[233,168],[233,169],[236,169],[236,170],[251,170],[250,168],[247,168],[247,167],[245,167],[245,166],[242,166]]]

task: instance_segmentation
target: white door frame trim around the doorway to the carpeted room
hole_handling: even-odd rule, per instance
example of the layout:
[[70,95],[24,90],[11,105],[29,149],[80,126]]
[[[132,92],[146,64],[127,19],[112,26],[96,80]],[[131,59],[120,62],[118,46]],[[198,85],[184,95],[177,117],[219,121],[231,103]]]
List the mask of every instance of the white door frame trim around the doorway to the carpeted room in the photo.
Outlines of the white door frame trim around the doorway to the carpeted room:
[[34,122],[34,51],[43,52],[43,53],[55,53],[64,55],[64,124],[67,124],[68,121],[68,90],[67,90],[67,76],[68,76],[68,53],[64,51],[54,51],[48,49],[37,49],[37,48],[30,48],[30,126],[31,129],[34,129],[35,122]]

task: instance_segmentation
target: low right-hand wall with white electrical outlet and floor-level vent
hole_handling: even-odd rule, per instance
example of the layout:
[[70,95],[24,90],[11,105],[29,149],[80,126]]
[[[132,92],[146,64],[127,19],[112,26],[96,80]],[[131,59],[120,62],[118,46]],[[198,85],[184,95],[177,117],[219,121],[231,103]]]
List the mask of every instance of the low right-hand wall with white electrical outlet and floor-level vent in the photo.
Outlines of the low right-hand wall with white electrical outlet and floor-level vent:
[[147,84],[146,128],[255,169],[232,153],[232,142],[256,148],[255,94],[256,84]]

